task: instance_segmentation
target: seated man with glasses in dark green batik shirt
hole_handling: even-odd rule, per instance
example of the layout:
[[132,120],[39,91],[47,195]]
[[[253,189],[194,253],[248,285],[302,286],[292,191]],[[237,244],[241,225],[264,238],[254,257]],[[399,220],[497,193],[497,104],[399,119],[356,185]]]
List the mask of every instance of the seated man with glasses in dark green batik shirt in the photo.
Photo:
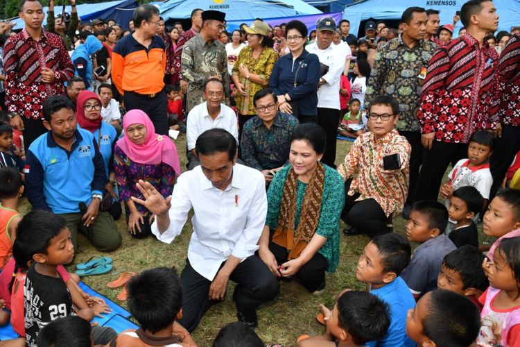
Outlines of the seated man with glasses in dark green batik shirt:
[[245,122],[241,151],[245,165],[261,171],[270,183],[277,171],[288,164],[291,135],[300,124],[293,115],[280,112],[275,92],[266,88],[253,97],[257,117]]

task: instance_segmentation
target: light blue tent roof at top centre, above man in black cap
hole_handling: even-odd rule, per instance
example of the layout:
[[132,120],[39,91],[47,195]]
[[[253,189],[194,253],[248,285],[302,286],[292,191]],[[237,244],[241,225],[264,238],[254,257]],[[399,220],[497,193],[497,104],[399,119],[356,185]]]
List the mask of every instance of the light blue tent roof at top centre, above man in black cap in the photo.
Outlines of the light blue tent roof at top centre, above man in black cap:
[[158,6],[164,20],[189,18],[194,8],[225,12],[227,21],[321,13],[302,0],[170,0]]

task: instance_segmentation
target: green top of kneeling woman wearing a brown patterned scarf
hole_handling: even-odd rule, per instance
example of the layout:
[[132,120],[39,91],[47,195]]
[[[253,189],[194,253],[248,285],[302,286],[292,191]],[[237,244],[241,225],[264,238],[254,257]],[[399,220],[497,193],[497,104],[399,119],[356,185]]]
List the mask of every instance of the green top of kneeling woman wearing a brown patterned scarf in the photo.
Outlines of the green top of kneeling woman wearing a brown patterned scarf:
[[[275,230],[278,226],[278,217],[281,205],[281,195],[284,191],[284,184],[289,173],[293,169],[291,166],[284,167],[277,172],[275,178],[272,179],[267,192],[267,219],[266,225],[271,230]],[[322,248],[318,251],[327,259],[327,271],[333,272],[338,266],[340,258],[340,215],[345,202],[345,183],[338,171],[331,169],[325,165],[325,182],[323,187],[322,205],[320,210],[320,221],[316,233],[327,238]],[[296,230],[300,223],[300,212],[302,210],[302,201],[307,190],[307,184],[297,182],[297,198],[296,198]]]

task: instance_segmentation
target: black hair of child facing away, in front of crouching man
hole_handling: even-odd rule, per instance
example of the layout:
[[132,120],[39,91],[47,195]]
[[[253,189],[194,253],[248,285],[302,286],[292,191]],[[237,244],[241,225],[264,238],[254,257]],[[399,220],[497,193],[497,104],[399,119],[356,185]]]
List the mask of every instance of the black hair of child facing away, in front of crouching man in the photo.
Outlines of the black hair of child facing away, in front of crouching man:
[[126,289],[128,310],[153,334],[172,325],[182,307],[182,285],[173,267],[145,270],[132,277]]

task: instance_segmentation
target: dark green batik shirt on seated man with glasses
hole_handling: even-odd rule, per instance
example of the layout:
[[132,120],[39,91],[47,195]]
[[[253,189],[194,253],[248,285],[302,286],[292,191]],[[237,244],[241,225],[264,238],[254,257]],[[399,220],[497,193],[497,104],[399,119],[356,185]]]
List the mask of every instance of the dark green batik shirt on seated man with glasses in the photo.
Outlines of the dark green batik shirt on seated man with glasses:
[[284,166],[289,159],[291,135],[298,124],[296,117],[281,112],[269,129],[259,117],[246,121],[241,139],[244,164],[257,170]]

